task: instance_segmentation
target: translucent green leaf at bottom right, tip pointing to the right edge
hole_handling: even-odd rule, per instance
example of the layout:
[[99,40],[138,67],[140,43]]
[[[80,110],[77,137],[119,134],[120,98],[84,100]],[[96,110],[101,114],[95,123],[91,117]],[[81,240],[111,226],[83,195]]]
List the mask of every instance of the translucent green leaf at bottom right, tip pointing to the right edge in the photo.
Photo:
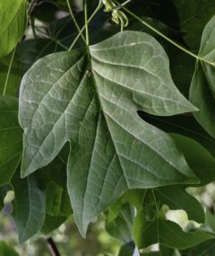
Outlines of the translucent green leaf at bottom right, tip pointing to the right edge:
[[148,221],[143,210],[134,220],[133,235],[139,249],[159,243],[169,248],[183,250],[214,238],[213,235],[201,230],[185,232],[179,225],[169,220],[157,218]]

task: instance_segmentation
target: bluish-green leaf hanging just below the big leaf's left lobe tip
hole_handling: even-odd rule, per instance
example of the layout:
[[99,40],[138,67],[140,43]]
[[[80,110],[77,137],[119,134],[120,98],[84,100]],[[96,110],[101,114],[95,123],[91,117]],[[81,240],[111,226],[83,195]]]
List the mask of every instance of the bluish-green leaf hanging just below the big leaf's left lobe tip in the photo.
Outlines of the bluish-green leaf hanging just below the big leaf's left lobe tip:
[[13,177],[13,220],[18,231],[19,243],[24,243],[42,227],[46,215],[46,193],[39,188],[37,177],[32,174],[20,179],[17,172]]

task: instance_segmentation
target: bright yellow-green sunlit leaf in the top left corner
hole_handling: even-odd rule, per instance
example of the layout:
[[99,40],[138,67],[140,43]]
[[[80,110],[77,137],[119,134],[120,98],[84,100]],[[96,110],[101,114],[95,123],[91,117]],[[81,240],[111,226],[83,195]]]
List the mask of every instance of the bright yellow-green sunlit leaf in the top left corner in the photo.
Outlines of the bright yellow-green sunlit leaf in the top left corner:
[[0,57],[10,53],[22,39],[26,21],[26,0],[0,2]]

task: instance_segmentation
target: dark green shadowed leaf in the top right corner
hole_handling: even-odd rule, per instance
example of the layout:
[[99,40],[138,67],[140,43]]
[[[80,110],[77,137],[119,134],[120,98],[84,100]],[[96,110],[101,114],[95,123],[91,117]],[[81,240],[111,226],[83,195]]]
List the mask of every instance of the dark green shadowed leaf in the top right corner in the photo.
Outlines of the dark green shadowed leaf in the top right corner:
[[188,46],[197,50],[200,45],[202,31],[211,16],[215,13],[213,0],[174,0],[180,17],[181,31]]

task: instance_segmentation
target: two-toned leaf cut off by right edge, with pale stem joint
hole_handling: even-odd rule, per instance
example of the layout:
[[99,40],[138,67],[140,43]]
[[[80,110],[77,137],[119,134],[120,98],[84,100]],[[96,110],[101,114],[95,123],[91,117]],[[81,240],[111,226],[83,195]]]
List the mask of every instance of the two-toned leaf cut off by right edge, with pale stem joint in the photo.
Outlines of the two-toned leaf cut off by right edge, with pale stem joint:
[[199,108],[194,116],[211,137],[215,137],[215,16],[206,25],[202,33],[202,43],[193,81],[190,88],[190,100]]

